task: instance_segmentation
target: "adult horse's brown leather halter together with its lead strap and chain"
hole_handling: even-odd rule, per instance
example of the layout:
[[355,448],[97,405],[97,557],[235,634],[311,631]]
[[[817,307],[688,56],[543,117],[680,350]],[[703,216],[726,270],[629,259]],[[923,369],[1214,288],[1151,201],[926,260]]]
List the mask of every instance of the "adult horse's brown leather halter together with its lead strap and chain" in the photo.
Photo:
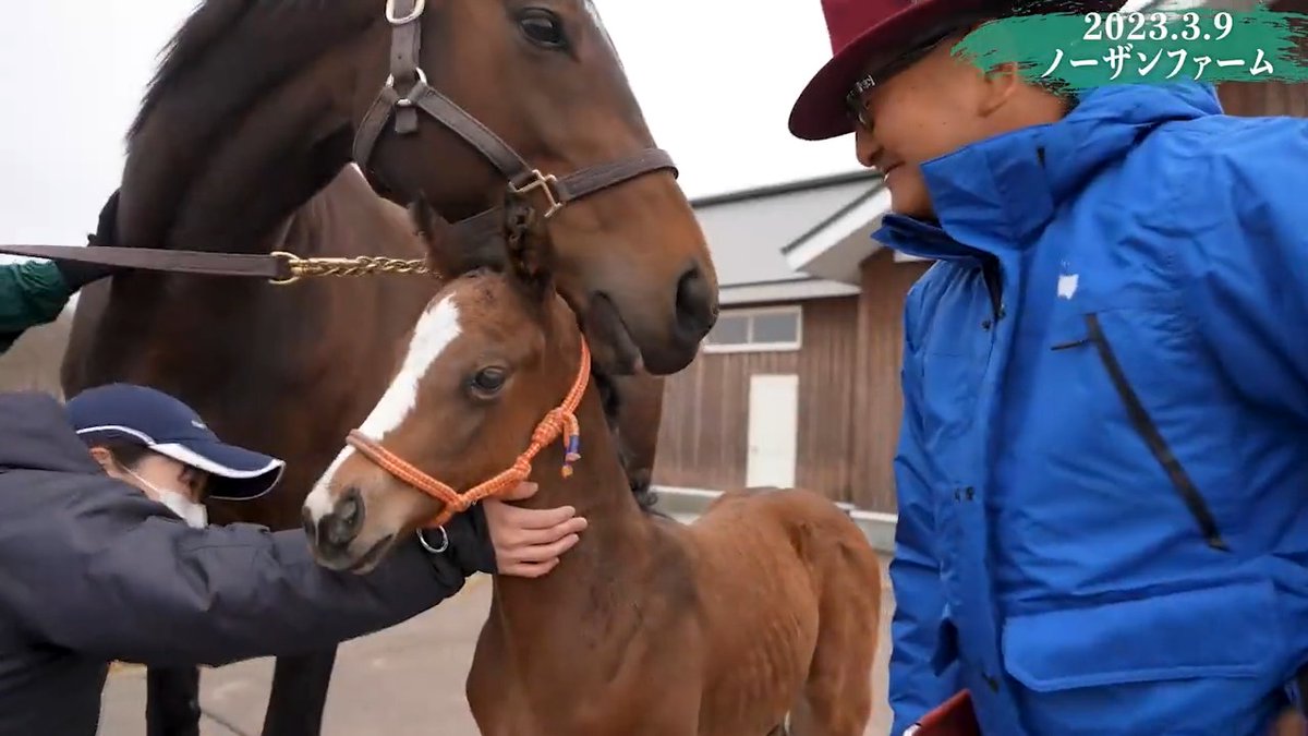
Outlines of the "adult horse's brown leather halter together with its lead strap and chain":
[[[659,148],[646,148],[625,158],[587,166],[562,178],[532,168],[480,120],[426,84],[426,73],[419,64],[422,39],[421,18],[425,9],[426,0],[386,1],[386,21],[394,28],[391,73],[354,132],[354,162],[358,164],[365,177],[369,170],[368,161],[377,140],[385,132],[386,123],[394,117],[392,130],[395,134],[411,135],[417,132],[419,110],[480,151],[508,179],[510,198],[526,202],[527,195],[539,190],[547,203],[543,215],[545,219],[552,217],[569,202],[629,179],[663,169],[671,170],[672,175],[678,174],[672,157]],[[402,96],[395,88],[398,83],[412,84],[408,92]],[[493,207],[454,223],[453,236],[462,242],[489,245],[496,240],[502,241],[508,228],[511,227],[515,225],[509,221],[504,207]],[[379,257],[298,258],[283,251],[252,254],[107,245],[97,245],[95,248],[0,245],[0,253],[150,271],[264,278],[276,284],[289,284],[301,276],[315,275],[364,275],[377,271],[425,272],[420,261]]]

